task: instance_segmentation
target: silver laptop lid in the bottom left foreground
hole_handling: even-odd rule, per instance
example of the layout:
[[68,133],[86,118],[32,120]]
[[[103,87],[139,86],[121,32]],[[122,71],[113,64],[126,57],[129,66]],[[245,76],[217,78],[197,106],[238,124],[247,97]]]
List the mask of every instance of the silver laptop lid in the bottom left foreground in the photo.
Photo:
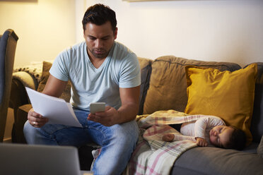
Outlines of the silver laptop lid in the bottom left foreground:
[[0,174],[92,173],[81,171],[76,147],[0,143]]

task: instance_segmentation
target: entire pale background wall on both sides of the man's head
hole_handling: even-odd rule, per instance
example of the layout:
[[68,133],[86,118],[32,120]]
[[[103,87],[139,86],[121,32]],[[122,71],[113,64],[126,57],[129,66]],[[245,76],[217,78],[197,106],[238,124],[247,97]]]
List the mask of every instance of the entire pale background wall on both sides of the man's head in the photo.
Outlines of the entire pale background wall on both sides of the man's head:
[[1,0],[0,32],[12,28],[19,37],[15,66],[54,59],[83,41],[83,13],[96,3],[116,11],[117,41],[138,56],[172,54],[241,66],[263,60],[262,0]]

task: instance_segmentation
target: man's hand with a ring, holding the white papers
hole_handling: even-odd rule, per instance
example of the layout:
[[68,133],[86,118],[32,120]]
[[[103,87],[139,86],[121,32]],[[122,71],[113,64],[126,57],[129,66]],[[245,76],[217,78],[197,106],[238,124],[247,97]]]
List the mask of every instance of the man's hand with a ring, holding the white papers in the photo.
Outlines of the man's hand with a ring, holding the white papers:
[[28,112],[28,121],[35,128],[40,128],[47,123],[48,119],[43,117],[41,114],[38,114],[34,109],[30,109]]

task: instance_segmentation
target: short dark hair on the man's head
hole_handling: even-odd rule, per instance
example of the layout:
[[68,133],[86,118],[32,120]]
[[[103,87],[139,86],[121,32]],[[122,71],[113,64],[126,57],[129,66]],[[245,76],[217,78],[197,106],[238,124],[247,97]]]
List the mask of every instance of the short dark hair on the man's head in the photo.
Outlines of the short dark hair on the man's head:
[[94,6],[90,6],[83,16],[83,30],[86,30],[87,23],[103,25],[107,21],[110,21],[112,30],[115,31],[117,25],[115,11],[112,11],[109,6],[105,6],[103,4],[95,4]]

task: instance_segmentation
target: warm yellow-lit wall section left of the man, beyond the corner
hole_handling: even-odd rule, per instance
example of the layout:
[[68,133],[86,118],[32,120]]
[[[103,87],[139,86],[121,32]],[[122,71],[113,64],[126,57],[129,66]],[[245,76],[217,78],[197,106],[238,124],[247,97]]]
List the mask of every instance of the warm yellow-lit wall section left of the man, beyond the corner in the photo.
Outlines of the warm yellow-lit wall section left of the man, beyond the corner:
[[15,67],[54,59],[76,42],[74,0],[0,1],[0,32],[19,37]]

